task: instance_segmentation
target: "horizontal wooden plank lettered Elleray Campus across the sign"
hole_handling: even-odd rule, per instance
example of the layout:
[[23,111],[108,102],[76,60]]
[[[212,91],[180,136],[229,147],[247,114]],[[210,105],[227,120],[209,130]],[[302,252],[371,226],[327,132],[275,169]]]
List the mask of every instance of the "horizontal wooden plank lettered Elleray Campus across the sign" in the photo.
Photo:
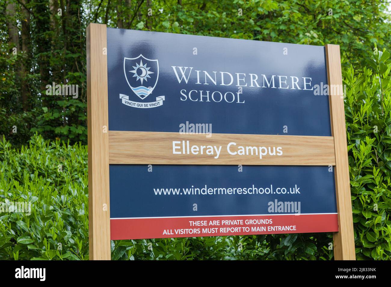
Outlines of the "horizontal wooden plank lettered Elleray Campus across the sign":
[[[178,147],[173,153],[173,141]],[[184,141],[184,144],[183,144]],[[189,141],[189,144],[187,144]],[[237,152],[239,146],[254,146],[251,155],[231,155],[227,145],[231,142],[230,151]],[[191,152],[192,146],[198,146],[198,154]],[[185,146],[185,153],[183,153]],[[213,155],[207,154],[201,146],[216,146],[221,151],[219,157],[213,148]],[[265,153],[267,149],[267,155]],[[271,153],[269,155],[269,147]],[[273,147],[276,148],[275,152]],[[281,147],[282,155],[278,155]],[[197,152],[197,150],[194,150]],[[110,164],[243,164],[243,165],[335,165],[333,137],[294,136],[294,135],[253,135],[253,134],[179,134],[174,132],[129,132],[109,131]]]

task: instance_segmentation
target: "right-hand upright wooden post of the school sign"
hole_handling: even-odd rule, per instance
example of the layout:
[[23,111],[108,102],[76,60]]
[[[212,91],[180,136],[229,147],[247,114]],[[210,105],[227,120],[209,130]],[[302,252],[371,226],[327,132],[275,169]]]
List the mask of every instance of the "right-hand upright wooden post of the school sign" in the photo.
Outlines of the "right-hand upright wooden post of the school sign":
[[339,232],[335,232],[334,259],[355,260],[352,199],[348,168],[346,124],[339,45],[326,45],[327,75],[329,85],[330,120],[335,146],[335,191]]

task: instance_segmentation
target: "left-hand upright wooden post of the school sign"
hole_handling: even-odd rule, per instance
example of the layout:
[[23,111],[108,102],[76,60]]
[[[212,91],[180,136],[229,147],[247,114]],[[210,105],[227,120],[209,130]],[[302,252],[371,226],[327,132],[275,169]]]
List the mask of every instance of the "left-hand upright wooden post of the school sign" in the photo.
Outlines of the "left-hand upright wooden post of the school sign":
[[90,260],[110,260],[106,25],[87,27],[88,212]]

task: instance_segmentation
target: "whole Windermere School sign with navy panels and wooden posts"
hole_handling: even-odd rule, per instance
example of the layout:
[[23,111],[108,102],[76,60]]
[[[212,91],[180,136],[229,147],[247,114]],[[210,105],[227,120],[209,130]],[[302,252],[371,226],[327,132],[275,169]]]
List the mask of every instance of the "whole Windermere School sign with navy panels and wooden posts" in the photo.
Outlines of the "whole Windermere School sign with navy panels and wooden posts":
[[335,232],[354,257],[339,46],[88,29],[90,237]]

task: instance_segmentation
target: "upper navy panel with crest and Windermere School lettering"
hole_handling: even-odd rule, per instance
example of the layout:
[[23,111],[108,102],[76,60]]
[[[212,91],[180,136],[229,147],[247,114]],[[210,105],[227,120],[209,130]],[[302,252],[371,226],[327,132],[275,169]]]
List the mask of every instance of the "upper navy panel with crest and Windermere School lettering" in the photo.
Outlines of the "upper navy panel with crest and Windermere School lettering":
[[107,39],[109,130],[178,132],[188,121],[223,134],[287,125],[331,135],[328,96],[314,96],[327,84],[323,46],[110,28]]

